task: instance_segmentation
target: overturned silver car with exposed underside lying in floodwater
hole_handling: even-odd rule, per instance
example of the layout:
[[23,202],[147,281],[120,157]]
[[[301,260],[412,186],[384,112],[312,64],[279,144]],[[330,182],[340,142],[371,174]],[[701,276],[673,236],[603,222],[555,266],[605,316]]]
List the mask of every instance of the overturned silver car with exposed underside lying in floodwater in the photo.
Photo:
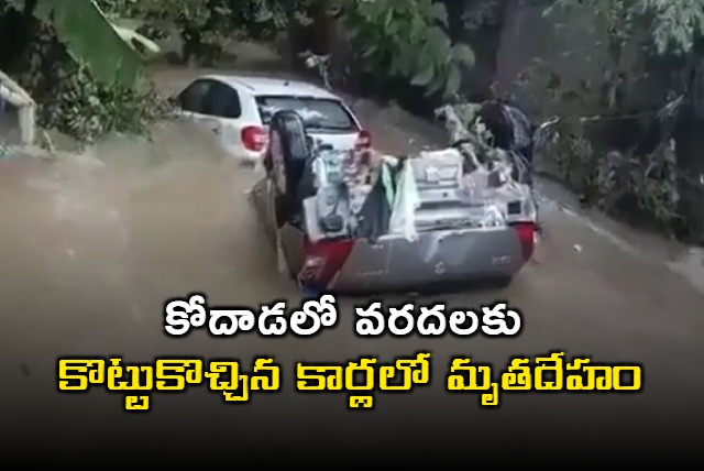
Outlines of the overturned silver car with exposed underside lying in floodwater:
[[459,132],[452,109],[440,114],[452,146],[391,156],[324,146],[277,112],[251,196],[280,269],[336,293],[507,285],[534,252],[529,175],[515,153]]

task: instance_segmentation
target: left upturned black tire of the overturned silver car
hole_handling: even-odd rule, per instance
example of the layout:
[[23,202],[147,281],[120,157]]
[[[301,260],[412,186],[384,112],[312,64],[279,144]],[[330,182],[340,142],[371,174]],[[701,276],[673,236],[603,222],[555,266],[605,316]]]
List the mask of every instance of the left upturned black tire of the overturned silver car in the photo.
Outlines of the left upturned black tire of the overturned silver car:
[[[289,110],[274,113],[270,123],[270,143],[266,173],[275,182],[278,193],[293,202],[309,156],[305,123],[300,116]],[[283,165],[283,169],[278,165]],[[279,177],[283,177],[283,182]]]

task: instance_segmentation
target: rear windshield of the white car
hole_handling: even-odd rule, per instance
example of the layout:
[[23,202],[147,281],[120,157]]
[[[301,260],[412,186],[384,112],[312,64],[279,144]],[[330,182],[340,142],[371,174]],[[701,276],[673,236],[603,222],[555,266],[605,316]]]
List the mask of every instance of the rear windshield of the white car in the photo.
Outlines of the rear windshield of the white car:
[[315,131],[358,131],[354,119],[340,100],[312,97],[260,96],[256,105],[264,125],[279,110],[298,112]]

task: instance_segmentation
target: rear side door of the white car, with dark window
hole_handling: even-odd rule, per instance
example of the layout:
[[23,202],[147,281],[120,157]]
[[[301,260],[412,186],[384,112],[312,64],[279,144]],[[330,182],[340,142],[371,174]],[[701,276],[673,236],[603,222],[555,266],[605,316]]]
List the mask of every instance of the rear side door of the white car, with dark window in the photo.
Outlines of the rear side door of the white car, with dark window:
[[242,108],[240,96],[227,84],[215,81],[204,98],[202,125],[218,140],[229,155],[240,155]]

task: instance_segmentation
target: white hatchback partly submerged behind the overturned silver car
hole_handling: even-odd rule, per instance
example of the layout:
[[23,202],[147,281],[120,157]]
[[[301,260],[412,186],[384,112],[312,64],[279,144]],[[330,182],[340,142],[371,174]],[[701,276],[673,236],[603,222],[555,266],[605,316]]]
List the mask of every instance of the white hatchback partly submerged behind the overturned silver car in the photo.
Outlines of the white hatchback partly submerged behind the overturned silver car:
[[243,162],[256,163],[268,144],[268,122],[278,110],[297,111],[308,133],[336,149],[371,146],[370,133],[346,103],[324,88],[295,80],[207,75],[177,97],[182,116],[216,135]]

